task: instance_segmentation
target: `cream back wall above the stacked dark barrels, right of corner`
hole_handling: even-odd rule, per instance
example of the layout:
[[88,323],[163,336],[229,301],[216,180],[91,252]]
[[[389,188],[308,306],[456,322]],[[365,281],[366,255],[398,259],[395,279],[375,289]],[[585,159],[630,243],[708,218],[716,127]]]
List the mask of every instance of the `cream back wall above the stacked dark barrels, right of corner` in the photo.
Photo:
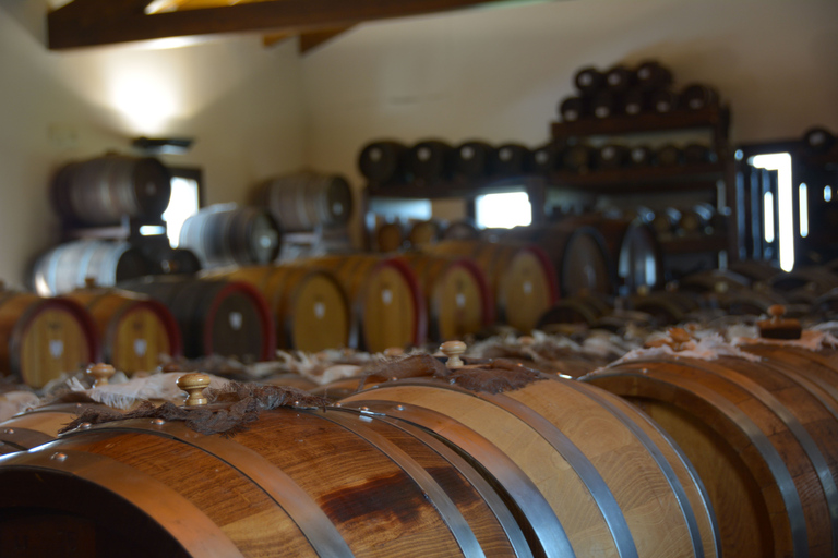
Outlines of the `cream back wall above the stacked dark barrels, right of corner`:
[[735,143],[838,133],[835,0],[575,0],[373,23],[313,52],[309,160],[360,185],[381,137],[537,145],[577,69],[646,58],[716,86]]

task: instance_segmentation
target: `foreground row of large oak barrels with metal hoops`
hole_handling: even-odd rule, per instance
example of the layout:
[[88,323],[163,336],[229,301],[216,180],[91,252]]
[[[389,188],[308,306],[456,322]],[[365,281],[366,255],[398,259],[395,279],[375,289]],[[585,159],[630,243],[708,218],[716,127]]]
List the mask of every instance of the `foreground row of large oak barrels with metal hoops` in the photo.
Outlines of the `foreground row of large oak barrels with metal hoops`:
[[[57,440],[77,410],[44,408],[0,428],[0,522],[11,556],[834,556],[835,348],[666,341],[579,380],[446,343],[444,366],[391,362],[337,403],[246,386]],[[278,396],[234,436],[205,429]]]

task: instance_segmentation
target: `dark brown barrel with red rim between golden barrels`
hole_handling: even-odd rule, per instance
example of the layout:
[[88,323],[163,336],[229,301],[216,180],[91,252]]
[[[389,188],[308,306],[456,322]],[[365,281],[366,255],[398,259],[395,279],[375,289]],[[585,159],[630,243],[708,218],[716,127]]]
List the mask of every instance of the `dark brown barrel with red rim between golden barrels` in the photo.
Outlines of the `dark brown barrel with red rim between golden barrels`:
[[148,294],[169,308],[180,326],[187,359],[217,354],[256,362],[275,356],[271,310],[250,283],[153,276],[120,287]]

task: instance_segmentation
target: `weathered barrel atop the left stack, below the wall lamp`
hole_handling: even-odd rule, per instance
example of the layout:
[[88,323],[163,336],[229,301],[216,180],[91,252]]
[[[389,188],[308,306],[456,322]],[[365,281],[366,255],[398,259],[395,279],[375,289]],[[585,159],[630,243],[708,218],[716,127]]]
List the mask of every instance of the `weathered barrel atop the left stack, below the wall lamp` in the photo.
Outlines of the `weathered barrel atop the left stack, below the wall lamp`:
[[153,157],[105,155],[62,167],[52,205],[77,225],[116,225],[122,216],[159,220],[171,197],[171,174]]

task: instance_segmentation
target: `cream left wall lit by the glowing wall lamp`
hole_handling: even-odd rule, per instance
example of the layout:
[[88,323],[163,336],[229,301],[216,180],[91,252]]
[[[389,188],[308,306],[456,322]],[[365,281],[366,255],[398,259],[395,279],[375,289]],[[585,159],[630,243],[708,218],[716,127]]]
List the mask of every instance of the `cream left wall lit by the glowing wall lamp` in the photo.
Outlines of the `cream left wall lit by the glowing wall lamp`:
[[[183,48],[115,46],[52,52],[40,0],[0,0],[0,279],[58,240],[47,199],[61,165],[131,151],[139,135],[194,137],[207,203],[243,203],[259,180],[304,165],[306,113],[292,43],[258,36]],[[127,86],[127,87],[125,87]]]

